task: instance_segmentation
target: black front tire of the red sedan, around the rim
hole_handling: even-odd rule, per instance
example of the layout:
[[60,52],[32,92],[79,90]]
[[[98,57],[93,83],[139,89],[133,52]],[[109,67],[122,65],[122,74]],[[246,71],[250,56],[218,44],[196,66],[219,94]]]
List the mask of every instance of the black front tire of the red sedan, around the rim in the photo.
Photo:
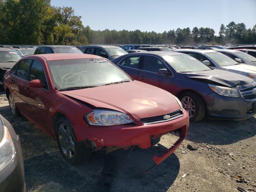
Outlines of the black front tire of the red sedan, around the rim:
[[[64,137],[62,137],[62,134],[60,132],[62,129],[61,127],[63,127],[63,125],[66,125],[66,130],[68,129],[70,130],[72,139],[69,139],[68,137],[66,137],[66,139],[64,140],[62,139]],[[57,138],[58,146],[60,148],[60,152],[64,160],[66,160],[66,162],[72,165],[79,165],[79,164],[82,164],[83,162],[86,162],[92,156],[92,148],[86,147],[84,142],[76,141],[76,134],[74,133],[71,123],[69,122],[68,119],[66,119],[65,117],[59,118],[56,122],[55,130],[56,130],[56,138]],[[63,145],[64,141],[66,144],[68,143],[70,145],[67,148],[69,149],[72,148],[72,152],[71,152],[72,157],[70,157],[70,155],[67,154],[67,149],[65,154],[65,149],[64,149],[65,147]],[[74,143],[72,147],[71,147],[71,143]]]

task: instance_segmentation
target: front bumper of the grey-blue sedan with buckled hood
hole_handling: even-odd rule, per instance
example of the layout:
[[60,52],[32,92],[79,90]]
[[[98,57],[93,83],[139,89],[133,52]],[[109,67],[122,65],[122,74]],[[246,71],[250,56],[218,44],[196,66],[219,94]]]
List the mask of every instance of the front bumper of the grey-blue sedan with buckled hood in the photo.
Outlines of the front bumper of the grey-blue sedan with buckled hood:
[[205,100],[209,118],[244,120],[256,114],[256,100],[225,97],[216,93],[205,96]]

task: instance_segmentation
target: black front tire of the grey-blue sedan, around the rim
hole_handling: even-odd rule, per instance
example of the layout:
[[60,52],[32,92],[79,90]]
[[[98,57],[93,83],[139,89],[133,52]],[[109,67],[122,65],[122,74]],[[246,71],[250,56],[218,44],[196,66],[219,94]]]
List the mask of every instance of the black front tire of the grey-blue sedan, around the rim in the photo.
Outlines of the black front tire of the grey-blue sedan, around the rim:
[[[191,113],[194,113],[194,114],[190,116],[189,118],[190,122],[198,122],[204,119],[204,117],[206,116],[206,105],[202,96],[194,92],[184,92],[180,95],[179,98],[185,110],[187,110],[186,106],[184,106],[184,100],[186,100],[186,98],[192,99],[194,103],[195,111],[194,112],[191,111]],[[190,106],[190,109],[191,108],[192,107]],[[189,111],[188,113],[190,115]]]

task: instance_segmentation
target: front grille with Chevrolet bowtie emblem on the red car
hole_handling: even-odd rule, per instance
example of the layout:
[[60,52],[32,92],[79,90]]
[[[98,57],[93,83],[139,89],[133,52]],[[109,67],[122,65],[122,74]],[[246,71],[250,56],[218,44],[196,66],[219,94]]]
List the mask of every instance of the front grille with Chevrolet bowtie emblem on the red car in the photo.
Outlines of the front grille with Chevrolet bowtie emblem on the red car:
[[181,110],[177,110],[177,111],[171,112],[169,114],[165,114],[165,115],[142,118],[141,121],[145,125],[147,125],[147,124],[160,123],[160,122],[174,120],[174,119],[179,118],[181,116],[183,116],[183,112]]

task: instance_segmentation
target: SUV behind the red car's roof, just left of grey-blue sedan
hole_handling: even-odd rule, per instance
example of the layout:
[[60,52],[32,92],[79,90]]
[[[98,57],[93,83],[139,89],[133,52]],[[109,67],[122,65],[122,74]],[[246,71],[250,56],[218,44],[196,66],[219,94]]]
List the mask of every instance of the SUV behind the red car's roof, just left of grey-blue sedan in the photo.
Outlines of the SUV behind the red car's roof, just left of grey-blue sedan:
[[117,46],[81,46],[79,49],[85,54],[98,55],[108,60],[113,60],[121,55],[127,54],[125,50]]

